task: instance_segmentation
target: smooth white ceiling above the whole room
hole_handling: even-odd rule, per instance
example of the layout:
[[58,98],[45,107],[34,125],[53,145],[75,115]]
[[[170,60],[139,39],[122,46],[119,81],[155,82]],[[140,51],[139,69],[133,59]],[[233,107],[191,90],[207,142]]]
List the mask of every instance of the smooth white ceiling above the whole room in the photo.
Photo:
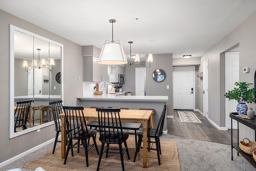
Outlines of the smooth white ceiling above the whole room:
[[[200,57],[256,11],[256,0],[1,0],[0,9],[82,46]],[[138,20],[136,20],[138,18]],[[153,57],[154,58],[154,57]]]

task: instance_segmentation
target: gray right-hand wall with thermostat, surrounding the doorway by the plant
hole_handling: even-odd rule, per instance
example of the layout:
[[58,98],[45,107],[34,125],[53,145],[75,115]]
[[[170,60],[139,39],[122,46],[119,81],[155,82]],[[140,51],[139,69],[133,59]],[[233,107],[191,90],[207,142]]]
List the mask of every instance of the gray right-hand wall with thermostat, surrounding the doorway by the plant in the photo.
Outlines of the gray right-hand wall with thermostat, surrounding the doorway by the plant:
[[[223,53],[237,47],[239,44],[239,81],[254,83],[254,72],[256,70],[256,58],[254,55],[256,54],[255,28],[256,12],[202,56],[203,59],[198,72],[203,71],[203,62],[209,60],[209,119],[220,127],[225,126],[225,107],[223,107],[225,70]],[[244,67],[249,67],[250,72],[243,73],[242,69]],[[202,98],[198,99],[201,106],[203,103]],[[249,103],[248,107],[254,107],[254,103]],[[243,133],[247,134],[245,137],[252,136],[252,139],[254,139],[254,133],[252,132],[247,128],[243,131]]]

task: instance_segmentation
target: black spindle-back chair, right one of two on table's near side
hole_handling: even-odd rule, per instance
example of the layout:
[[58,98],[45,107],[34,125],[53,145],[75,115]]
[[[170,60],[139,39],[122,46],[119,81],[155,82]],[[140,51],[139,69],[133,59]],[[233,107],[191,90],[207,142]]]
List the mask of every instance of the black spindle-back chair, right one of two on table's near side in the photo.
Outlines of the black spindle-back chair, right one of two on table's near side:
[[[106,158],[108,157],[108,153],[119,153],[122,163],[122,170],[124,171],[123,155],[125,151],[127,153],[128,159],[130,159],[126,143],[129,134],[123,132],[119,114],[120,108],[96,108],[96,111],[98,111],[98,123],[100,132],[99,140],[102,143],[97,171],[100,168],[100,161],[103,153],[106,153]],[[107,144],[106,148],[104,148],[105,143]],[[122,149],[122,143],[124,143],[124,149]],[[119,148],[110,148],[110,144],[118,144]],[[114,150],[119,150],[119,152],[114,152]]]

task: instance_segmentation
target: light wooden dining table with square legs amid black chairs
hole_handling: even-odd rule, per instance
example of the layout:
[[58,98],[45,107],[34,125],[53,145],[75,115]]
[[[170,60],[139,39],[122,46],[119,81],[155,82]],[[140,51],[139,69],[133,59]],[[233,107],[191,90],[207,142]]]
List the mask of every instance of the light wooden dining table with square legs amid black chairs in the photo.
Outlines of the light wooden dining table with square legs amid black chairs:
[[[84,108],[84,117],[86,121],[98,121],[98,112],[95,108]],[[147,147],[150,147],[150,143],[147,143],[147,131],[150,128],[150,116],[152,110],[131,110],[121,109],[120,119],[122,122],[128,123],[142,123],[143,124],[143,167],[147,167]],[[66,155],[66,121],[65,113],[60,114],[61,117],[61,156],[62,159]]]

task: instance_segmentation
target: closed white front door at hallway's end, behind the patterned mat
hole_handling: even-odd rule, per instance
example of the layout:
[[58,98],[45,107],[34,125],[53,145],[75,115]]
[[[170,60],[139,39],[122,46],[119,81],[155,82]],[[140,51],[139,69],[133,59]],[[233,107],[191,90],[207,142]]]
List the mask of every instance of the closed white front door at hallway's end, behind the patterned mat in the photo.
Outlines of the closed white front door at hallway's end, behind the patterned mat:
[[173,68],[173,109],[194,109],[194,67]]

